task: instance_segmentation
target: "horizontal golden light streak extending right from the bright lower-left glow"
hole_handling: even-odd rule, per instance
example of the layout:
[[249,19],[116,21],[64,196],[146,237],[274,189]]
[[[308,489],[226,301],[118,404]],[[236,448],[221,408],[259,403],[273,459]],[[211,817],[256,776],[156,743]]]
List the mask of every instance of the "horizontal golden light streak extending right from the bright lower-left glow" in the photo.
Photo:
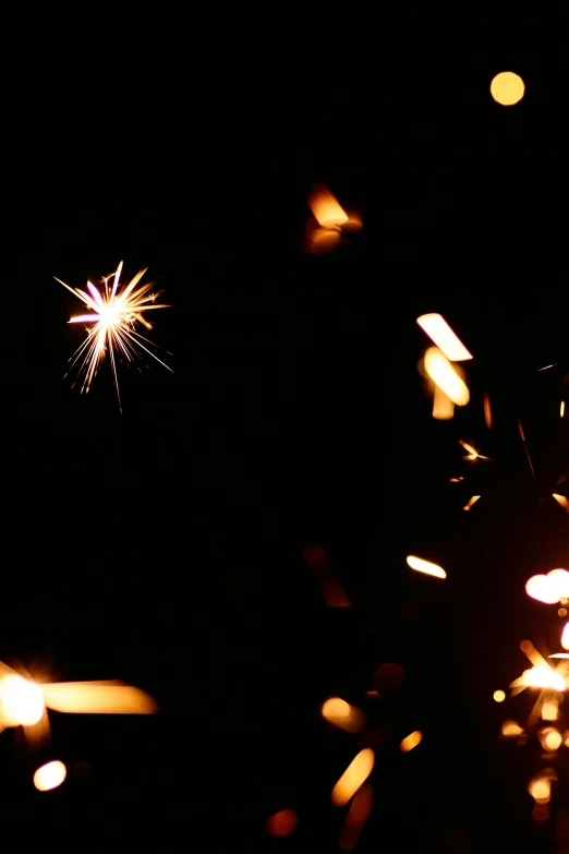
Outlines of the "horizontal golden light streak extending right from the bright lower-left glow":
[[75,714],[155,714],[158,703],[149,694],[119,679],[56,682],[41,685],[46,706]]

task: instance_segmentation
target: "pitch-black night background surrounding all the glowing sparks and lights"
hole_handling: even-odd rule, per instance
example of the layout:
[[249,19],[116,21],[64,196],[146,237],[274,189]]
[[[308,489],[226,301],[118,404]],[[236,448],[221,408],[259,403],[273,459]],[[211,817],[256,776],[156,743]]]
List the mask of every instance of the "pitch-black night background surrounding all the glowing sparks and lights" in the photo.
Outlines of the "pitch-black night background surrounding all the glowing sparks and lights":
[[[557,802],[531,821],[533,748],[496,738],[531,700],[492,695],[525,667],[523,637],[557,650],[561,621],[523,587],[569,563],[550,498],[569,472],[567,11],[409,7],[331,33],[327,14],[240,13],[222,35],[36,22],[41,51],[23,39],[5,77],[0,658],[160,703],[52,713],[52,755],[92,775],[48,794],[0,736],[2,820],[29,839],[338,850],[329,793],[360,736],[319,708],[340,695],[377,747],[358,850],[557,850]],[[510,69],[526,92],[504,108],[488,86]],[[317,182],[364,222],[323,256],[303,243]],[[88,396],[62,380],[81,304],[52,278],[83,287],[120,260],[160,280],[152,337],[174,371],[122,370],[122,416],[108,369]],[[474,354],[448,423],[417,371],[429,311]],[[459,438],[495,462],[469,467]],[[325,605],[313,544],[352,608]],[[404,689],[366,699],[389,661]],[[299,827],[271,840],[283,808]]]

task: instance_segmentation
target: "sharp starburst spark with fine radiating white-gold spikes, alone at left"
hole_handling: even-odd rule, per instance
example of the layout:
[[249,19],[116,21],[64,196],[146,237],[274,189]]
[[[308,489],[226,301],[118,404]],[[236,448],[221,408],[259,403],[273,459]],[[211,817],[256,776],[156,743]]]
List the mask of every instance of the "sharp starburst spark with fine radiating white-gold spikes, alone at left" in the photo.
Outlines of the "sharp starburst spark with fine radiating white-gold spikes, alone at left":
[[[84,302],[87,309],[90,309],[90,313],[78,314],[69,321],[69,323],[89,324],[86,327],[87,337],[70,359],[71,368],[80,362],[77,380],[82,378],[81,390],[82,393],[89,390],[99,365],[108,351],[121,412],[122,405],[117,373],[118,358],[124,358],[128,362],[134,362],[136,359],[142,360],[141,350],[144,350],[144,352],[152,356],[153,359],[156,359],[164,368],[173,373],[171,368],[162,362],[161,359],[158,359],[145,346],[145,344],[152,345],[152,341],[144,335],[141,335],[135,328],[136,324],[142,324],[146,329],[152,329],[152,324],[144,316],[145,312],[170,308],[169,305],[155,302],[161,291],[160,293],[150,292],[154,282],[138,284],[146,270],[147,267],[141,269],[129,285],[123,287],[120,282],[122,273],[121,261],[116,272],[102,279],[102,289],[96,288],[90,281],[87,281],[88,293],[81,288],[72,288],[65,285],[64,281],[61,281],[61,279],[58,279],[57,276],[53,276],[56,281],[63,285],[64,288]],[[112,278],[112,285],[109,287],[110,278]]]

